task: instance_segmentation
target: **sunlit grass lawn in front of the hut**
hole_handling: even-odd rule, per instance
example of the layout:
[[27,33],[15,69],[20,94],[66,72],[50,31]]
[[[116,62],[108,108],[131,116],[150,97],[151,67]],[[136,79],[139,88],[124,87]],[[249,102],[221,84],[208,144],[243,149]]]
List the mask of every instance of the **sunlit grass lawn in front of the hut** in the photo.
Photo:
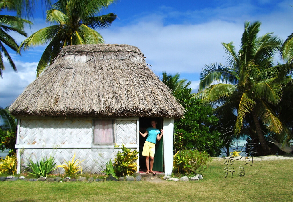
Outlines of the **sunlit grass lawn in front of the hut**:
[[[235,172],[225,178],[224,160],[214,160],[203,180],[190,182],[4,181],[0,201],[293,201],[293,160],[252,162],[228,165]],[[240,165],[244,177],[237,174]]]

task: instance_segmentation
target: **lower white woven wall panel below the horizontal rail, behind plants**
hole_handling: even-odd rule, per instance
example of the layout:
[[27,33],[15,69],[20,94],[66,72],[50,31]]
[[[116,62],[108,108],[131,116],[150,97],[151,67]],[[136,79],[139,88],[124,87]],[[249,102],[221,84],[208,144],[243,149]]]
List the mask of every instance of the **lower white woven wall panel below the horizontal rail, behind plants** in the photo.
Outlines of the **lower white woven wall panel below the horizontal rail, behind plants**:
[[[71,161],[74,154],[75,160],[84,160],[81,163],[82,172],[84,173],[103,173],[106,168],[106,162],[109,159],[114,162],[115,155],[119,149],[117,148],[92,148],[92,149],[23,149],[21,151],[21,172],[28,164],[31,158],[33,162],[39,162],[43,157],[54,156],[56,166],[65,164],[65,161]],[[54,174],[64,174],[63,168],[57,168]]]

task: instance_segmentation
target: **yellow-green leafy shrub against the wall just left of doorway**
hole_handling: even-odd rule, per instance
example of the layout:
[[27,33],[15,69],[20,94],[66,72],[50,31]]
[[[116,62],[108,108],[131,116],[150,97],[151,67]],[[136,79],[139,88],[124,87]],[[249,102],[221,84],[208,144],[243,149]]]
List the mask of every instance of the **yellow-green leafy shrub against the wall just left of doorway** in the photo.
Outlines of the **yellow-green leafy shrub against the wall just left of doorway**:
[[[115,147],[118,147],[117,145]],[[116,176],[132,175],[137,171],[138,153],[137,150],[131,151],[122,145],[122,152],[119,151],[116,155],[115,162],[113,164]]]

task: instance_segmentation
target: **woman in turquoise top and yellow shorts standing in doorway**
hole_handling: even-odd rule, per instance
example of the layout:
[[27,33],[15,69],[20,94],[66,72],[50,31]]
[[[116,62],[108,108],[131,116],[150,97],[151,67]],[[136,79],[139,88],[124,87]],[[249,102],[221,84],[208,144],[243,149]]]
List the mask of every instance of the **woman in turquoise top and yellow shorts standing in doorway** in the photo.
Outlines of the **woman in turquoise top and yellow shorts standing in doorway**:
[[[147,172],[146,172],[146,174],[148,174],[150,172],[153,175],[156,174],[153,171],[156,139],[158,141],[160,141],[162,136],[163,136],[163,129],[161,129],[161,131],[159,129],[156,129],[156,124],[157,124],[157,122],[152,120],[151,121],[151,126],[152,127],[147,128],[147,131],[145,133],[142,133],[142,132],[139,131],[139,133],[143,137],[148,136],[146,142],[144,143],[144,148],[142,150],[142,155],[146,157],[146,164],[147,164]],[[151,159],[150,162],[149,162],[149,158]]]

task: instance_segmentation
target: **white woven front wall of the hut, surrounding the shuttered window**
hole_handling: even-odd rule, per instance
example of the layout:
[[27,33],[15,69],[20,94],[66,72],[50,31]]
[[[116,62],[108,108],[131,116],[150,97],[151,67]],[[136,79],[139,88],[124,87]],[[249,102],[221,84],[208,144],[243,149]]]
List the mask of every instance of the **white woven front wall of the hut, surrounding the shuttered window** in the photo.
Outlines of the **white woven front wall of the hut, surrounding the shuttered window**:
[[[81,165],[83,172],[101,173],[109,159],[112,161],[120,150],[110,146],[93,146],[92,148],[70,148],[70,145],[92,145],[92,120],[60,120],[60,119],[22,119],[19,130],[21,154],[21,172],[31,158],[33,162],[43,157],[54,156],[56,165],[75,159],[84,160]],[[137,120],[116,120],[116,143],[137,144]],[[30,146],[31,145],[31,146]],[[40,146],[33,148],[32,146]],[[44,145],[53,145],[52,148]],[[61,148],[61,146],[67,148]],[[51,147],[51,146],[50,146]],[[131,146],[130,146],[131,148]],[[137,148],[134,148],[137,149]],[[63,174],[64,169],[58,168],[55,174]]]

